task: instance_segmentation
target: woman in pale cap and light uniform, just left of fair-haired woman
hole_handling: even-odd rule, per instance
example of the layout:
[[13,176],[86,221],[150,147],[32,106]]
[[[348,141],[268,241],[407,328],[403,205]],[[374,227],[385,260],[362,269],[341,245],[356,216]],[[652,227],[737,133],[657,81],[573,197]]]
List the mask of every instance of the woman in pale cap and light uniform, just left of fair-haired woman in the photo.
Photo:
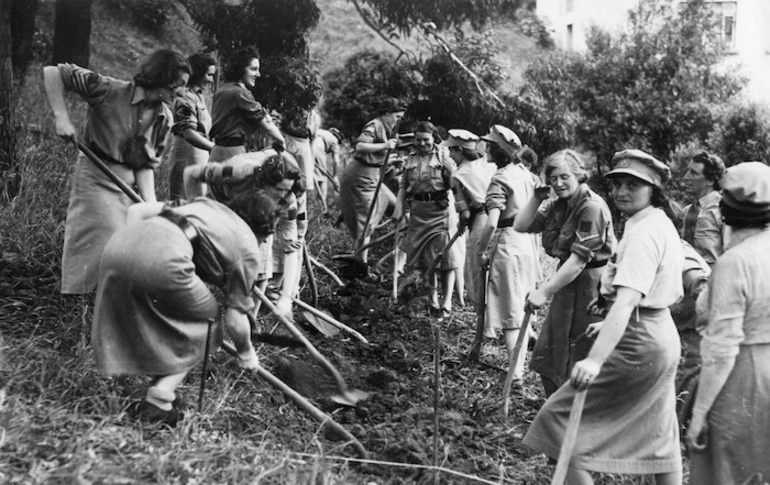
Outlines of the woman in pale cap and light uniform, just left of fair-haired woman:
[[[497,166],[486,191],[488,218],[477,248],[482,264],[489,265],[485,334],[494,336],[495,330],[502,328],[505,347],[511,355],[524,318],[527,291],[540,273],[534,237],[514,231],[513,222],[540,181],[519,163],[521,142],[516,133],[494,125],[482,139],[487,141],[489,161]],[[517,379],[522,378],[525,356],[526,352],[522,352],[515,363]]]

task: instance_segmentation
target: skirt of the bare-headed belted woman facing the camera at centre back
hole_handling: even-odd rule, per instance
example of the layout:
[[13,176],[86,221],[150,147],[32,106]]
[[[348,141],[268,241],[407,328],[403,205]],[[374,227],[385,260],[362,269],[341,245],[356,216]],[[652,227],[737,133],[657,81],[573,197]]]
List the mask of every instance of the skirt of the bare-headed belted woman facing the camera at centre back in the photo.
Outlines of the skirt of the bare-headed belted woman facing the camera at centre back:
[[[406,253],[407,267],[427,269],[456,231],[457,213],[451,205],[442,207],[433,201],[413,200],[406,238],[401,248]],[[455,241],[443,254],[438,269],[448,271],[462,265],[462,251],[459,247],[460,242]]]

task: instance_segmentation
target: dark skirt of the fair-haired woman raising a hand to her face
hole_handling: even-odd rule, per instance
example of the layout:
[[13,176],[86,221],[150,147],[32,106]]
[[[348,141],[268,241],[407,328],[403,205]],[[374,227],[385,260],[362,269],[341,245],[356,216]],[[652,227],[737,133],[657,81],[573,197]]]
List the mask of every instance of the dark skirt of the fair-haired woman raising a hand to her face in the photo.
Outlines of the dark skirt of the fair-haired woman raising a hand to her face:
[[586,311],[598,295],[597,283],[604,268],[587,268],[574,281],[553,296],[530,367],[541,376],[561,386],[569,380],[575,362],[588,357],[593,339],[585,335],[588,325],[602,320]]

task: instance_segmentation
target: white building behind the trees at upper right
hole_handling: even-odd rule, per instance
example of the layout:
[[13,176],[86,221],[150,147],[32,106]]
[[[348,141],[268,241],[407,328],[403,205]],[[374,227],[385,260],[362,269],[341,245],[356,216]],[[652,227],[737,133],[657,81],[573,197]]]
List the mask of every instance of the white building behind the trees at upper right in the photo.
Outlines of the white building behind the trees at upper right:
[[[671,0],[678,2],[680,0]],[[592,25],[610,32],[628,22],[639,0],[537,0],[537,15],[551,29],[556,46],[584,51]],[[727,48],[724,67],[749,79],[745,95],[770,103],[770,0],[707,0],[721,17]]]

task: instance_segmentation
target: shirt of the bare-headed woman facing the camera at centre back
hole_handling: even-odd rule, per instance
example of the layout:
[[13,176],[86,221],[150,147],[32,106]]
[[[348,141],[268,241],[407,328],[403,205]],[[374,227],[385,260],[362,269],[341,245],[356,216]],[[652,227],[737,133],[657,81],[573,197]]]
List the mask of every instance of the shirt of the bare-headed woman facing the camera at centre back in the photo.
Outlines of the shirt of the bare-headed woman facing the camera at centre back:
[[456,169],[454,160],[438,146],[427,155],[412,152],[406,157],[400,188],[408,195],[447,190]]

